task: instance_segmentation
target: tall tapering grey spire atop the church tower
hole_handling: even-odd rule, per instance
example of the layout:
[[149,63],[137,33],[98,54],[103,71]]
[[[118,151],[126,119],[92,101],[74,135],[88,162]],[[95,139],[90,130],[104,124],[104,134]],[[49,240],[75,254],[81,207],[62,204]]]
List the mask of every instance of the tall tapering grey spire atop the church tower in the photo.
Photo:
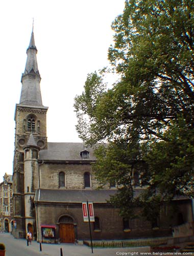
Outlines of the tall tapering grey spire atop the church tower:
[[19,104],[42,106],[42,97],[40,91],[41,77],[38,71],[38,63],[36,58],[37,49],[35,46],[33,30],[30,38],[30,44],[27,49],[25,72],[21,76],[22,88]]

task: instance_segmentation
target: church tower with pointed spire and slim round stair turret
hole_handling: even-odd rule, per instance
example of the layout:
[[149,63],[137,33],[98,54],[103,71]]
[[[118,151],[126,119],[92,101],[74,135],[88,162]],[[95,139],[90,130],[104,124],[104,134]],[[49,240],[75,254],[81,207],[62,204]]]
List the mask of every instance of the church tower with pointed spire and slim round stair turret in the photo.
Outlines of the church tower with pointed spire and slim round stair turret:
[[[33,200],[38,189],[38,152],[47,148],[46,112],[42,105],[40,74],[37,65],[34,32],[27,49],[25,72],[21,76],[21,95],[15,109],[15,151],[13,164],[13,235],[26,237],[35,227]],[[30,221],[31,220],[31,221]],[[29,226],[28,226],[29,225]]]

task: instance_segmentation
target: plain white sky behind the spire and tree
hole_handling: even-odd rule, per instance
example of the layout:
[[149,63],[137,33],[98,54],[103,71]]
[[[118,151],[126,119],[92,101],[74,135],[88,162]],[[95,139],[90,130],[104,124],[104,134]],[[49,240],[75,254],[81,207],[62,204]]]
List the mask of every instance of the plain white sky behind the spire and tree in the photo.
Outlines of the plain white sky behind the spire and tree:
[[123,12],[124,0],[6,0],[0,3],[1,168],[12,174],[15,104],[26,65],[34,17],[40,87],[47,112],[50,142],[80,142],[74,98],[87,74],[108,65],[111,23]]

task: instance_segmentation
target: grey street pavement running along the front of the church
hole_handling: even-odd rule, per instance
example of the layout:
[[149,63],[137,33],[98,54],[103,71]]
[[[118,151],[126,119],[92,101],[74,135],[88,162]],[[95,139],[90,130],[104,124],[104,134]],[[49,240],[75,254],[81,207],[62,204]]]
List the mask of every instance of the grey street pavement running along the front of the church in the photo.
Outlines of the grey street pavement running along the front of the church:
[[42,251],[40,251],[40,244],[36,241],[32,241],[32,244],[27,246],[25,239],[14,239],[10,233],[0,233],[0,243],[4,243],[6,246],[6,256],[61,256],[61,248],[63,256],[140,255],[138,252],[149,252],[150,249],[146,246],[130,248],[93,248],[92,253],[91,248],[85,245],[43,243],[41,244]]

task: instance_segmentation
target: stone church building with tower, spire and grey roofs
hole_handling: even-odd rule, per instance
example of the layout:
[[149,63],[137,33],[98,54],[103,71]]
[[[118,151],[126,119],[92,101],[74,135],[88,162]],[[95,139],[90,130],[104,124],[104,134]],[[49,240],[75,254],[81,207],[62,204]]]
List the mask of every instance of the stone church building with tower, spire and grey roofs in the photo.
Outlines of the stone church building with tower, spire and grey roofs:
[[[126,220],[106,200],[116,187],[96,190],[92,173],[95,161],[92,148],[83,143],[48,142],[47,106],[42,104],[37,49],[32,32],[27,49],[25,71],[21,76],[20,101],[15,109],[15,153],[13,165],[12,234],[25,238],[31,230],[34,239],[43,242],[74,243],[89,239],[88,223],[83,221],[82,202],[93,202],[92,238],[130,239],[172,236],[172,226],[192,222],[192,207],[180,200],[177,217],[166,221],[163,209],[158,228],[142,219]],[[140,191],[136,188],[136,193]]]

